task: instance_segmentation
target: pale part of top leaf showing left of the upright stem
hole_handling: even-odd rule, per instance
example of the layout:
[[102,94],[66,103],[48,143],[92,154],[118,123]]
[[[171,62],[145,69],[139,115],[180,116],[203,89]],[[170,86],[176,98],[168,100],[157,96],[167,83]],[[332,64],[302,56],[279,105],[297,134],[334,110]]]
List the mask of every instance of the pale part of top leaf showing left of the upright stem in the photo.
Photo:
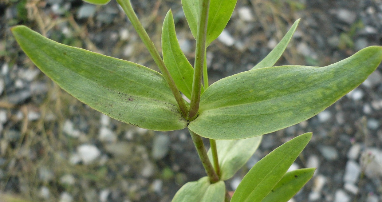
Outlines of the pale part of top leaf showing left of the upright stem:
[[191,29],[191,33],[196,38],[197,25],[200,19],[200,0],[181,0],[183,12],[185,13],[188,26]]

